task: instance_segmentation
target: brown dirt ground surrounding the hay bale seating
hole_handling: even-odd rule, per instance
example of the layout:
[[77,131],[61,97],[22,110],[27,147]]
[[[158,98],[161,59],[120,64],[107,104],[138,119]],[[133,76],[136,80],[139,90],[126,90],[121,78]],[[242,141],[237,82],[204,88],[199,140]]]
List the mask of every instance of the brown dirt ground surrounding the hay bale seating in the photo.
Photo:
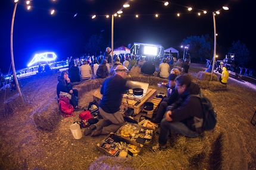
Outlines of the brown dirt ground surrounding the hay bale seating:
[[[192,63],[189,73],[196,77],[200,70],[205,69],[204,65]],[[58,104],[58,75],[60,73],[21,79],[26,107],[18,108],[13,114],[5,113],[4,101],[17,94],[17,91],[0,91],[0,169],[96,169],[92,164],[104,156],[104,153],[99,152],[95,145],[105,136],[83,136],[82,139],[74,139],[69,126],[80,120],[79,112],[76,112],[75,117],[63,118],[52,131],[39,129],[33,121],[35,110],[42,104],[54,98],[54,104]],[[165,92],[163,88],[157,89],[158,92]],[[94,91],[79,92],[82,107],[93,100]],[[204,134],[210,142],[211,152],[205,156],[206,158],[199,158],[200,166],[172,162],[171,165],[176,166],[170,166],[168,169],[256,169],[256,127],[250,123],[255,111],[253,107],[256,106],[256,85],[230,78],[224,91],[202,91],[218,113],[216,130]],[[158,155],[168,156],[166,153],[168,152],[161,152]],[[154,155],[155,153],[143,150],[140,158],[146,160]],[[218,157],[217,161],[210,159],[214,158],[214,155]],[[165,161],[163,159],[163,163]],[[151,163],[156,163],[157,166],[157,162]],[[132,169],[156,169],[147,163],[129,166]]]

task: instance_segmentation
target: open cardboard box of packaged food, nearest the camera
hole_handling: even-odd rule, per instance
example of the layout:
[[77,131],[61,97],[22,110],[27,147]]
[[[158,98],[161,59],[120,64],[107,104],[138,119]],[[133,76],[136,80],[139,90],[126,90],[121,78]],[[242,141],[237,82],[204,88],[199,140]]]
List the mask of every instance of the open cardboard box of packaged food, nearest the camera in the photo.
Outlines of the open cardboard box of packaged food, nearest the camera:
[[142,145],[140,145],[137,142],[128,140],[124,137],[118,136],[117,134],[112,132],[108,134],[108,136],[105,137],[104,140],[98,143],[96,147],[99,151],[106,153],[107,155],[117,157],[121,150],[117,149],[117,145],[115,142],[118,142],[118,143],[125,142],[127,143],[127,145],[130,146],[129,149],[127,150],[128,157],[141,155],[142,153],[142,147],[143,147]]

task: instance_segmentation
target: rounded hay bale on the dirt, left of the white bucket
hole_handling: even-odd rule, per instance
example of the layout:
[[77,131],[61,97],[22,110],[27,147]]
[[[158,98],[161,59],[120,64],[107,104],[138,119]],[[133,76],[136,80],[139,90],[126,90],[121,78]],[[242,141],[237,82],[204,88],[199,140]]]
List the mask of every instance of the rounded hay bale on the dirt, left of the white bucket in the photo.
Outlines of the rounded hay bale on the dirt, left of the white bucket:
[[38,110],[33,113],[36,126],[43,130],[53,130],[61,119],[58,104],[55,100],[43,102]]

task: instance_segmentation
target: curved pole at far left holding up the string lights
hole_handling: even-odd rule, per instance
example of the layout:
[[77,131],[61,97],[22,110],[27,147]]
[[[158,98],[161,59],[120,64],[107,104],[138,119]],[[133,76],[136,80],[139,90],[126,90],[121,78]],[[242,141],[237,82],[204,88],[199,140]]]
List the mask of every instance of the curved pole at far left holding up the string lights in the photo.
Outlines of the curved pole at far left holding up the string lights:
[[15,13],[16,13],[16,8],[17,8],[17,3],[15,3],[15,5],[14,5],[13,18],[11,20],[11,63],[12,63],[12,66],[13,66],[13,76],[14,76],[14,80],[15,80],[15,83],[16,83],[16,88],[18,89],[18,93],[20,94],[20,97],[23,101],[23,104],[25,104],[23,95],[20,91],[20,86],[18,85],[18,79],[17,79],[17,76],[16,76],[15,66],[14,66],[14,59],[13,59],[13,25],[14,25],[14,17],[15,17]]

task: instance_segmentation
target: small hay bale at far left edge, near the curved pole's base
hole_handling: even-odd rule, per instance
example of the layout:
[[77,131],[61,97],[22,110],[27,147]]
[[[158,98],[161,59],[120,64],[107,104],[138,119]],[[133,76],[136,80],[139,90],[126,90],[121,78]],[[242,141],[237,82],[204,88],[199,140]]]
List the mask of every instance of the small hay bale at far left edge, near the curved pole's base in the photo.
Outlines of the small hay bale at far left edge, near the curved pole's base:
[[17,108],[23,106],[23,99],[20,94],[15,94],[4,102],[4,114],[13,114]]

